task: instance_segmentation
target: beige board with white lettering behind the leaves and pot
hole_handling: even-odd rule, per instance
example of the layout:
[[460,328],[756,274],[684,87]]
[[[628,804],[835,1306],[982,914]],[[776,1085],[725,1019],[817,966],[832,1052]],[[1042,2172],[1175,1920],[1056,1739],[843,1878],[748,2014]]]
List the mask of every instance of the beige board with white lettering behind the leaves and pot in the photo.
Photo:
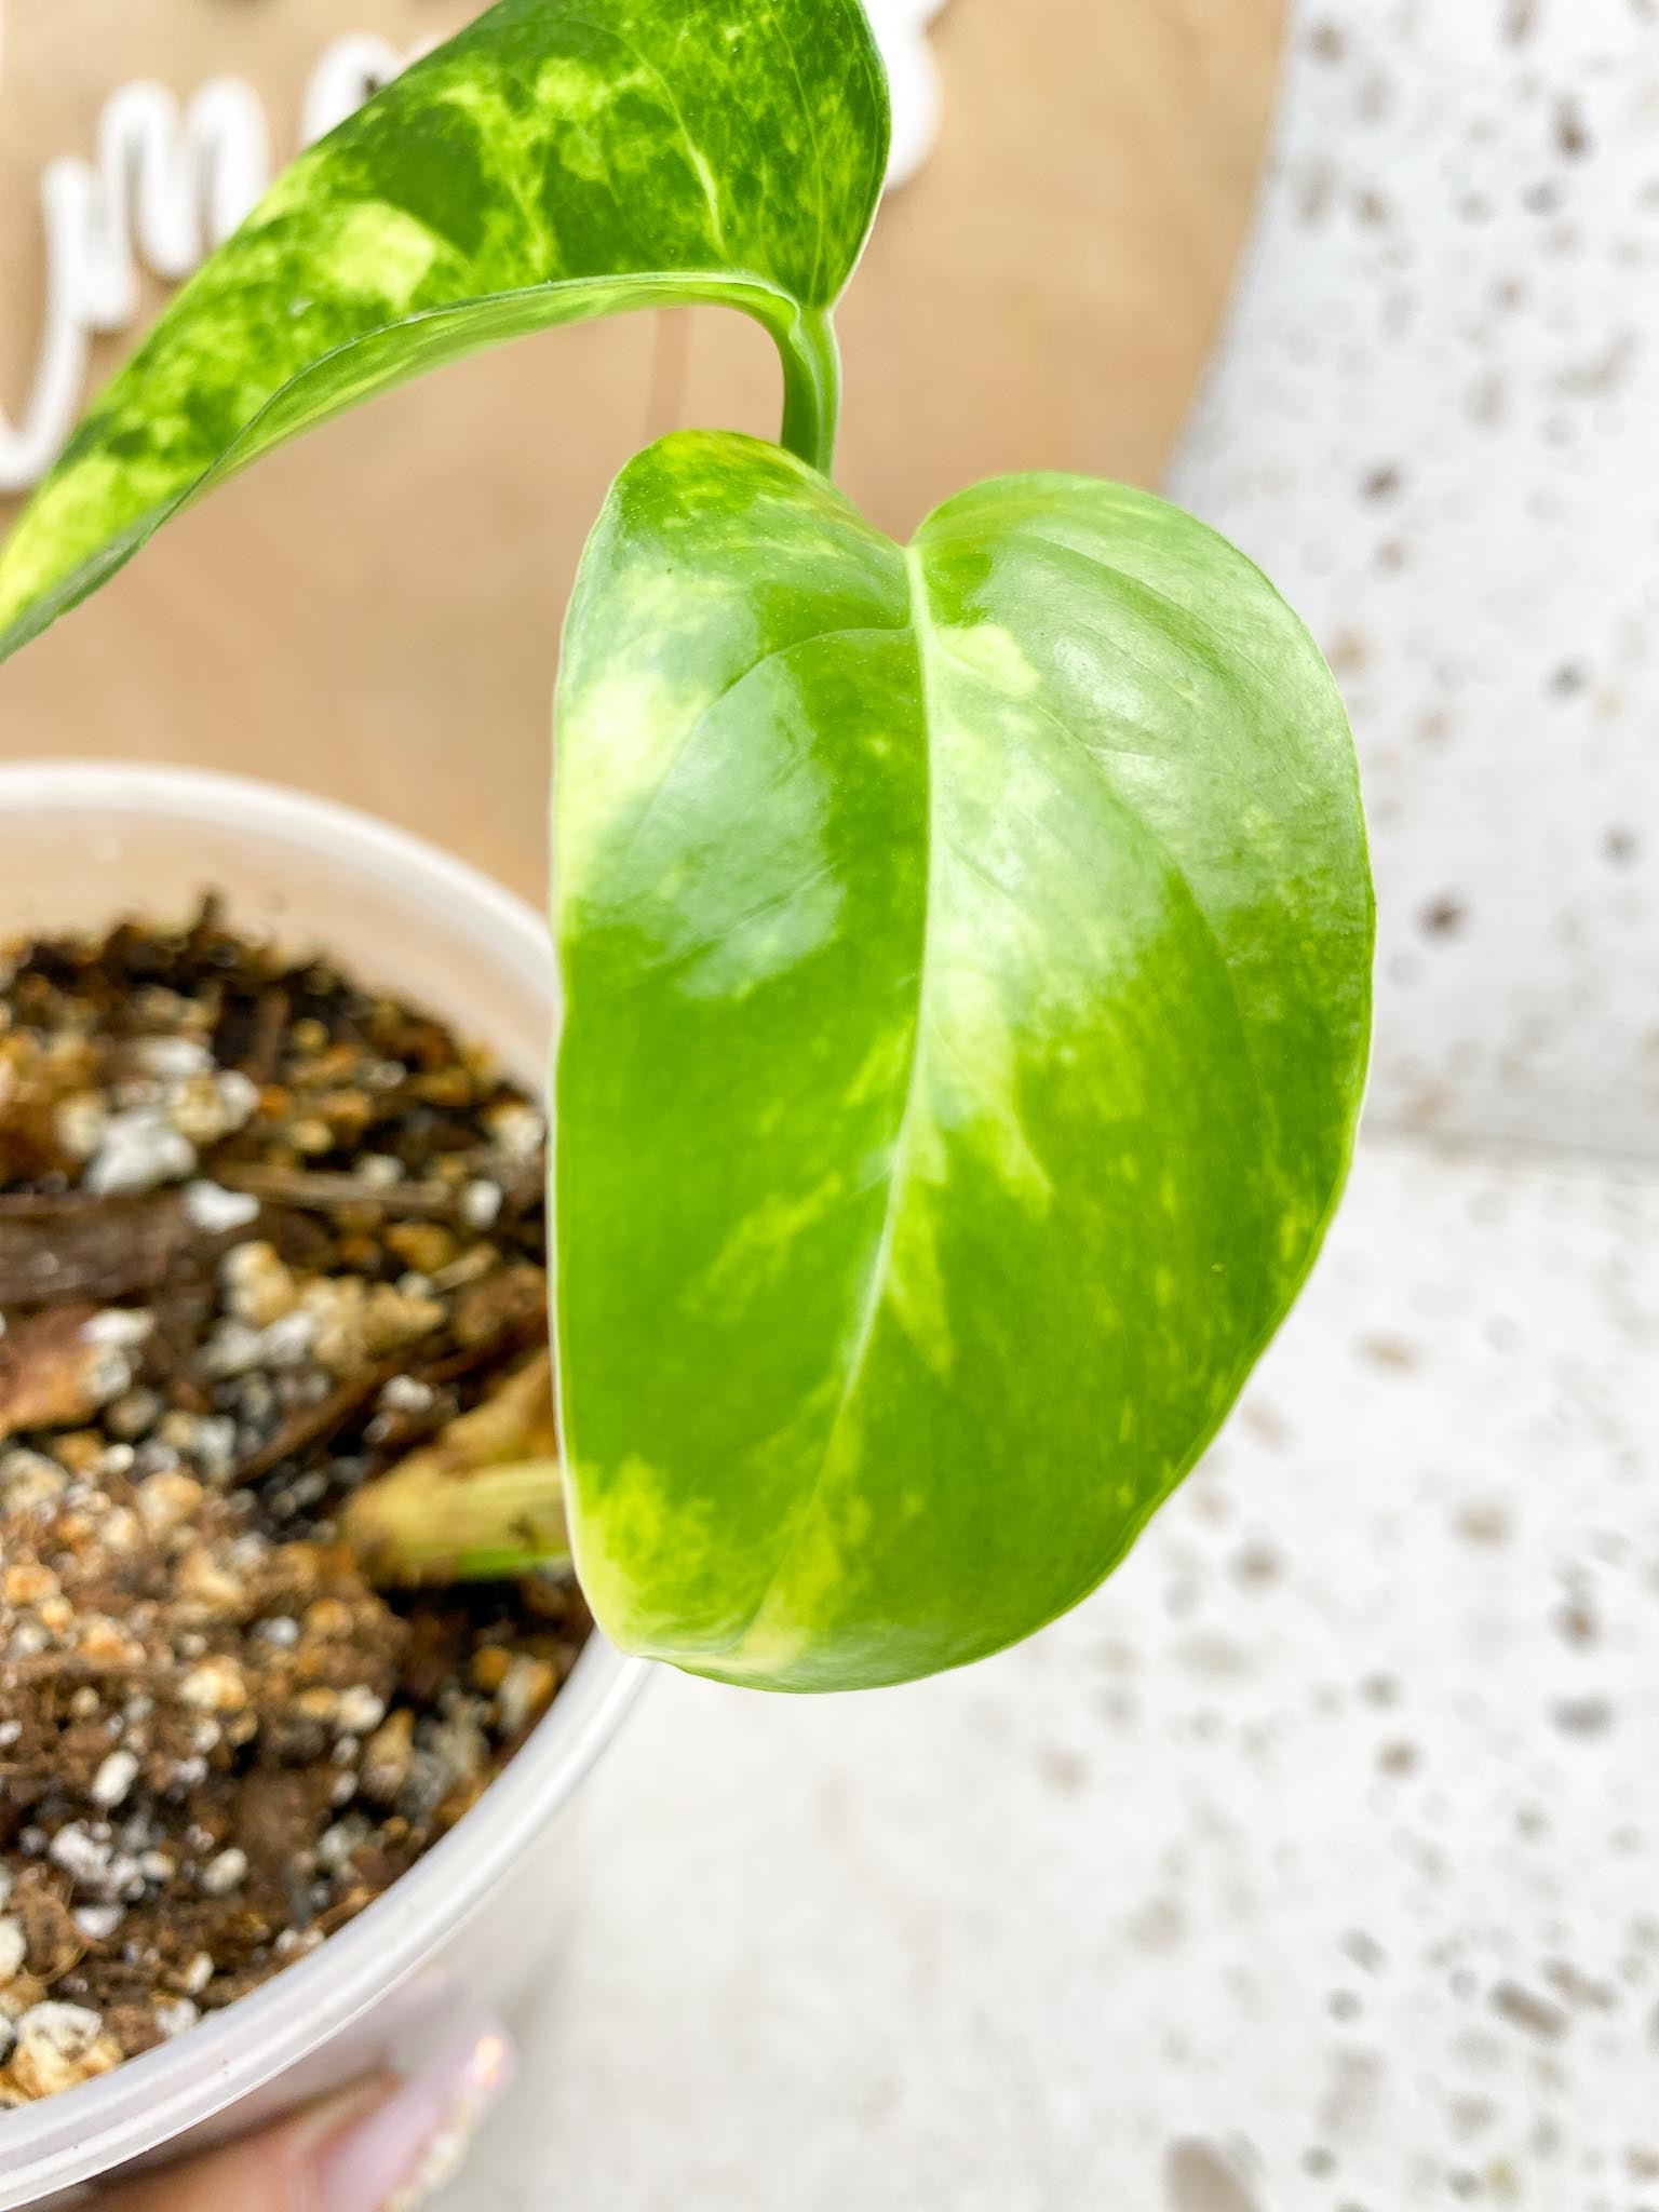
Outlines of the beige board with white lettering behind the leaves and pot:
[[[1000,469],[1152,480],[1250,215],[1283,0],[951,0],[945,137],[843,314],[841,476],[891,529]],[[38,175],[108,93],[234,71],[290,148],[343,31],[411,44],[467,0],[11,0],[0,396],[40,327]],[[104,361],[115,347],[104,347]],[[553,332],[261,465],[0,670],[0,757],[237,768],[347,799],[535,894],[546,697],[615,469],[684,420],[776,429],[734,316]],[[11,509],[0,502],[0,529]]]

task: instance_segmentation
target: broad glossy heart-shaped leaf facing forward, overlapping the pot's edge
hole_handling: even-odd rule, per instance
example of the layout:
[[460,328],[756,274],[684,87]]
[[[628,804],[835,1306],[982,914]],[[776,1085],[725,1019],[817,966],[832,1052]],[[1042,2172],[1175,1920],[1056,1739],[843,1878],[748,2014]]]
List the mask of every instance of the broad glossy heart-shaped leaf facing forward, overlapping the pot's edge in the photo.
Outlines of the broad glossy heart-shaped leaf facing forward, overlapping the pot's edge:
[[1128,1551],[1294,1298],[1360,1099],[1371,891],[1307,633],[1139,491],[909,551],[681,436],[566,639],[560,1352],[630,1650],[953,1666]]

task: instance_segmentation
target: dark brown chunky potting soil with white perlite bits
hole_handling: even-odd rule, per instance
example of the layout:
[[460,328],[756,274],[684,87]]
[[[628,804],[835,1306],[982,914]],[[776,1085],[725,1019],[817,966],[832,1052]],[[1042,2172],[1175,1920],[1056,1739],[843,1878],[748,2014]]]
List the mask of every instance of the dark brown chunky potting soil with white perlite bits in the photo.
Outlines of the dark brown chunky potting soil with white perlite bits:
[[573,1584],[387,1599],[336,1528],[544,1343],[542,1152],[212,905],[0,964],[0,2106],[314,1949],[568,1677]]

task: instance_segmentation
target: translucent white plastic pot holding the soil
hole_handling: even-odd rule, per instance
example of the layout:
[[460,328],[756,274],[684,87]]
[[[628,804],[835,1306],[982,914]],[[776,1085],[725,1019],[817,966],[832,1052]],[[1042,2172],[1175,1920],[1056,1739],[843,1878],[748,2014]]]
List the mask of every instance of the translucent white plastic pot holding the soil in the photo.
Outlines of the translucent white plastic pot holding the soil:
[[[0,768],[0,938],[122,914],[181,920],[217,889],[234,927],[325,951],[429,1006],[544,1093],[555,1022],[546,929],[418,838],[232,776],[69,763]],[[69,2203],[117,2168],[409,2062],[458,1986],[511,2000],[562,1913],[557,1869],[540,1849],[549,1823],[641,1679],[595,1637],[507,1774],[352,1927],[177,2042],[0,2112],[0,2212]]]

